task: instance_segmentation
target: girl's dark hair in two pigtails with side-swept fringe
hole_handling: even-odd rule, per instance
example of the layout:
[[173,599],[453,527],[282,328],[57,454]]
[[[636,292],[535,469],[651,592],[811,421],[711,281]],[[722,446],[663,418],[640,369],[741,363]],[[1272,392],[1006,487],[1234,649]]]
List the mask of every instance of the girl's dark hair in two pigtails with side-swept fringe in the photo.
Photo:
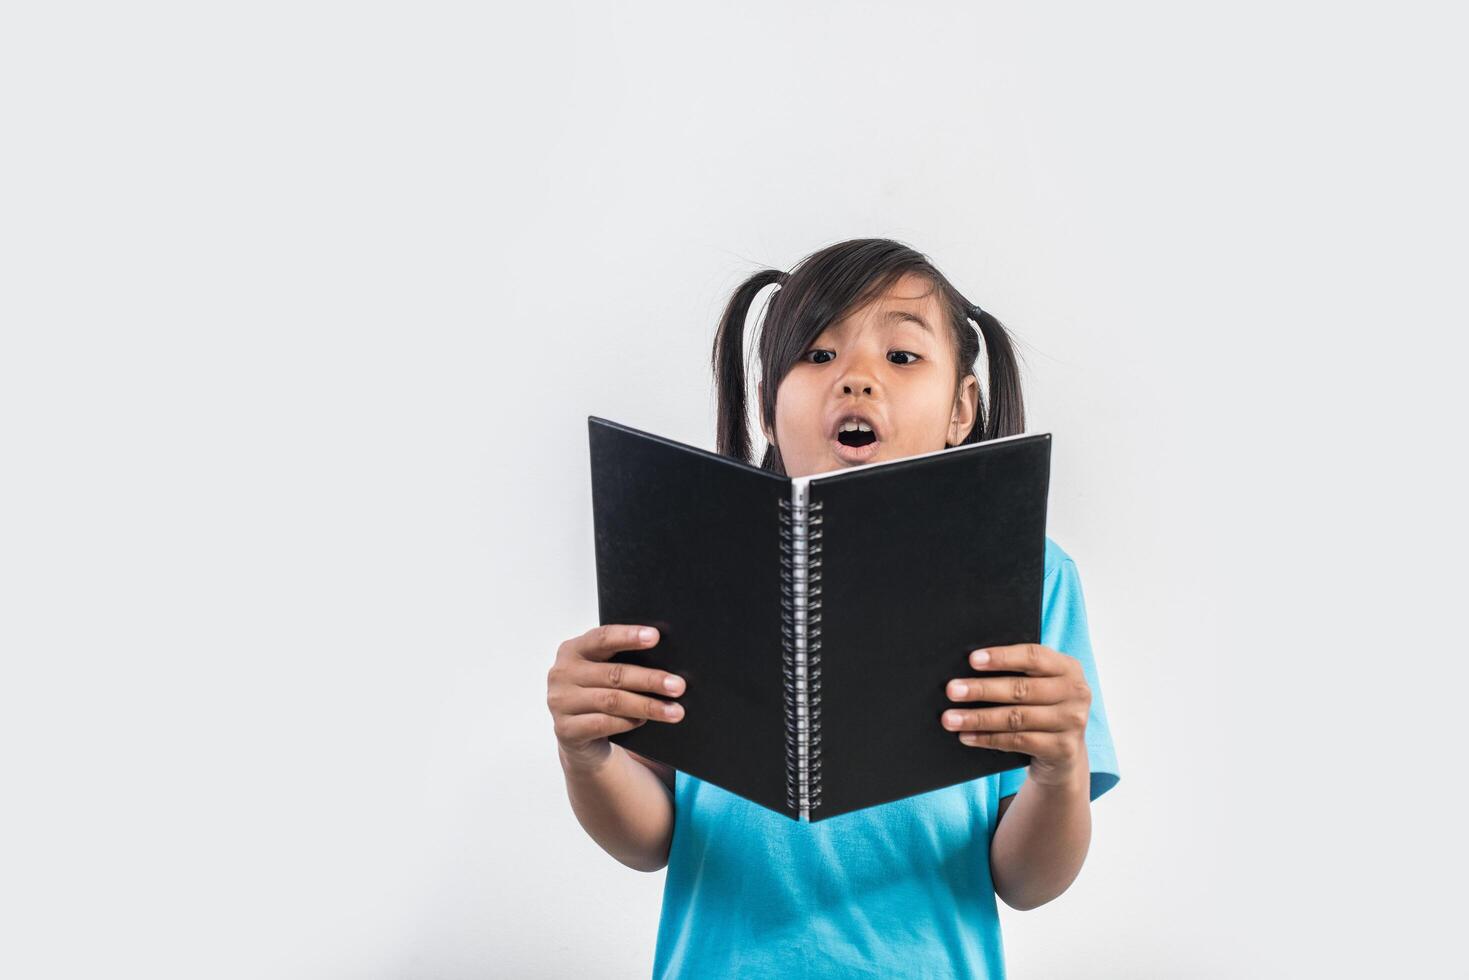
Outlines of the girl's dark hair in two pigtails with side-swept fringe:
[[[1025,408],[1019,391],[1015,348],[1005,325],[970,303],[928,259],[887,238],[853,238],[814,251],[789,273],[762,269],[730,297],[714,338],[714,385],[718,400],[718,453],[752,463],[745,398],[745,320],[755,295],[779,285],[765,304],[759,335],[762,398],[759,416],[767,429],[776,428],[776,391],[792,366],[830,323],[858,310],[886,291],[905,273],[917,273],[939,289],[948,313],[958,361],[955,383],[974,375],[980,356],[980,334],[989,353],[990,397],[980,389],[978,417],[964,444],[983,442],[1025,430]],[[978,332],[970,320],[978,325]],[[978,376],[975,375],[975,382]],[[986,404],[987,401],[987,404]],[[961,444],[962,445],[962,444]],[[761,469],[784,475],[780,450],[765,450]]]

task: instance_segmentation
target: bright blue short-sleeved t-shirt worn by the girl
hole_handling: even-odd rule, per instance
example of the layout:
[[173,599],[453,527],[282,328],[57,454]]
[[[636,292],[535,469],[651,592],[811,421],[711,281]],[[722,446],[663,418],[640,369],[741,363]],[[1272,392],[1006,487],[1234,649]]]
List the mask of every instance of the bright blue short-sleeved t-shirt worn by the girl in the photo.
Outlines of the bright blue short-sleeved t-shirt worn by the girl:
[[[1119,779],[1116,754],[1081,579],[1049,538],[1044,574],[1040,642],[1080,660],[1091,686],[1096,799]],[[799,823],[676,770],[654,977],[1000,980],[990,837],[1027,771]]]

